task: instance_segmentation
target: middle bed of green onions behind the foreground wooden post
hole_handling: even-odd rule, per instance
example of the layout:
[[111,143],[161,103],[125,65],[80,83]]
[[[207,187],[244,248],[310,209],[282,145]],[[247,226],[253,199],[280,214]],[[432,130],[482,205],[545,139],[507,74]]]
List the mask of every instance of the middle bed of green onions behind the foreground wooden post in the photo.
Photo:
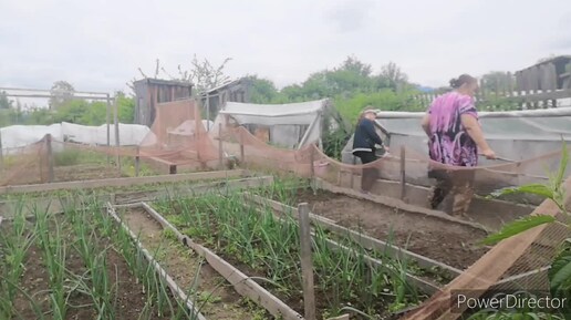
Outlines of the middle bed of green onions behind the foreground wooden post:
[[[270,209],[246,204],[240,194],[176,197],[153,207],[193,241],[261,279],[263,288],[303,312],[299,226],[293,217],[278,219]],[[318,319],[346,312],[377,319],[425,297],[408,281],[406,261],[382,257],[383,262],[374,265],[354,242],[346,241],[346,249],[331,242],[325,231],[315,228]]]

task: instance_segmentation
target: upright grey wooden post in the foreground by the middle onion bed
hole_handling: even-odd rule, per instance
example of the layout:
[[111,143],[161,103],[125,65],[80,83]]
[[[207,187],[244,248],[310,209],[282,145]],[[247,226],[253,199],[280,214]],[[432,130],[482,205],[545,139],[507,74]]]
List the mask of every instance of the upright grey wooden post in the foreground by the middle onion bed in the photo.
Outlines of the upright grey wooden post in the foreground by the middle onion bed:
[[309,205],[302,203],[298,206],[300,215],[300,245],[301,245],[301,272],[303,278],[303,307],[307,320],[315,320],[315,293],[313,288],[313,261],[311,254],[311,233],[309,219]]

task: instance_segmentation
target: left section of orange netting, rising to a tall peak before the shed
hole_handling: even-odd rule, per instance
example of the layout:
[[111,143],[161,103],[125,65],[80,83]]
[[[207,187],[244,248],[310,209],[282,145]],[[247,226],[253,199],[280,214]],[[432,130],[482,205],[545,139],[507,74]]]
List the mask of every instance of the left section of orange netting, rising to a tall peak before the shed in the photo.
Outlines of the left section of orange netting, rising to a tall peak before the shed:
[[[82,132],[81,126],[64,125],[74,130],[75,141],[81,136],[83,142],[92,141],[90,135],[101,135],[105,130],[102,126]],[[111,127],[110,146],[101,143],[105,141],[101,136],[93,140],[98,143],[87,144],[49,132],[25,147],[3,147],[0,185],[129,176],[135,174],[137,163],[157,174],[173,172],[173,167],[180,172],[180,168],[196,171],[220,165],[219,149],[208,137],[194,100],[158,104],[150,131],[138,131],[139,136],[133,136],[131,131],[122,134],[122,126],[118,130],[120,140],[115,141],[115,128]]]

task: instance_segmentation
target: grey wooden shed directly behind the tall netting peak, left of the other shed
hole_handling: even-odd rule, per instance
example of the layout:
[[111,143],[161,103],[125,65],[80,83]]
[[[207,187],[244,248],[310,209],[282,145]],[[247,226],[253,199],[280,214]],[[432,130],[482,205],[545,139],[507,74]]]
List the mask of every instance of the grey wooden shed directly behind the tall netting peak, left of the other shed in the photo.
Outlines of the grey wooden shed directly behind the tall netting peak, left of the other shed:
[[135,81],[135,123],[150,126],[155,121],[156,105],[191,96],[193,84],[160,79]]

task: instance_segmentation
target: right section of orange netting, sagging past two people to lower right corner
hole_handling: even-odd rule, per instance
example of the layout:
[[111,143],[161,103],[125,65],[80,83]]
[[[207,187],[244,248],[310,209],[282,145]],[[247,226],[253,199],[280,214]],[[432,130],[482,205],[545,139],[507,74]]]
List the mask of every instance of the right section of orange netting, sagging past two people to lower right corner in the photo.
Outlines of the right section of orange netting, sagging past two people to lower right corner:
[[[372,193],[392,197],[403,197],[401,186],[434,186],[435,178],[445,176],[454,185],[469,183],[476,194],[488,195],[500,188],[523,184],[548,184],[549,173],[561,165],[561,149],[520,162],[498,162],[476,168],[458,168],[435,163],[425,154],[403,147],[392,151],[376,162],[349,165],[335,161],[314,145],[292,151],[268,145],[245,127],[226,127],[220,136],[225,151],[240,157],[243,165],[255,168],[278,169],[304,177],[318,177],[333,185],[361,188],[362,175],[373,175]],[[569,164],[568,164],[569,167]],[[372,172],[374,174],[372,174]],[[430,176],[429,176],[430,173]],[[569,172],[565,173],[565,176]],[[382,182],[386,183],[382,183]],[[391,186],[394,186],[393,188]],[[568,183],[568,189],[571,189]],[[430,195],[426,188],[426,195]],[[422,193],[403,198],[418,206],[430,207],[428,197],[417,199]],[[407,198],[408,197],[408,198]],[[511,200],[522,204],[541,204],[536,214],[553,215],[562,224],[551,224],[534,228],[492,247],[461,276],[450,282],[442,293],[437,293],[419,309],[412,319],[457,319],[461,312],[450,311],[451,292],[467,292],[478,297],[486,292],[546,292],[549,291],[547,270],[556,257],[559,245],[571,237],[567,217],[550,200],[512,196]],[[446,200],[443,200],[446,203]],[[454,205],[454,200],[453,200]],[[468,202],[469,205],[469,202]],[[445,208],[446,209],[446,208]],[[476,208],[475,210],[478,210]],[[487,213],[501,216],[501,211]],[[510,219],[506,219],[510,220]],[[443,227],[445,227],[443,225]],[[444,314],[444,316],[443,316]]]

